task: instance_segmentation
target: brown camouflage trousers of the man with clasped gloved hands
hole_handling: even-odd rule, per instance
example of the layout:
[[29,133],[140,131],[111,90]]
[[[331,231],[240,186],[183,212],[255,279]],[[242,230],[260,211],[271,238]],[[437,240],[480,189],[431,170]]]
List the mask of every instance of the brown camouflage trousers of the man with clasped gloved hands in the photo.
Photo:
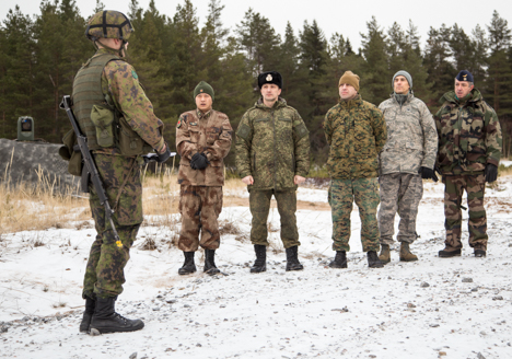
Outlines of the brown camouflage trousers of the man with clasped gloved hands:
[[[183,252],[196,252],[199,244],[205,250],[217,250],[220,245],[219,223],[222,211],[221,186],[182,185],[179,193],[179,212],[182,231],[178,248]],[[201,240],[199,242],[199,232]]]

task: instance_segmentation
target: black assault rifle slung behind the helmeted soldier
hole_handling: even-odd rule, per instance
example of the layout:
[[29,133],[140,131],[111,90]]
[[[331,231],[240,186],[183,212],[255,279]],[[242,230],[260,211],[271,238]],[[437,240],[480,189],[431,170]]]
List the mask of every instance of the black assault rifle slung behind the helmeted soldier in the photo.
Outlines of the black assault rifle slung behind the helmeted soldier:
[[[112,219],[114,210],[112,209],[110,204],[108,202],[105,188],[103,188],[102,178],[100,177],[100,173],[97,172],[96,163],[94,162],[94,158],[92,157],[91,151],[89,150],[88,138],[84,135],[82,135],[77,118],[74,117],[73,109],[71,108],[71,97],[69,95],[62,97],[60,108],[66,109],[69,120],[71,121],[71,126],[73,126],[74,134],[77,135],[77,142],[80,148],[80,152],[82,153],[82,161],[85,164],[82,171],[86,171],[91,176],[91,182],[94,186],[94,189],[96,190],[97,197],[100,198],[100,204],[102,204],[102,206],[105,207],[105,217],[110,222],[116,243],[119,243],[119,235],[117,234],[116,227],[114,225],[114,221]],[[82,178],[84,176],[82,175]]]

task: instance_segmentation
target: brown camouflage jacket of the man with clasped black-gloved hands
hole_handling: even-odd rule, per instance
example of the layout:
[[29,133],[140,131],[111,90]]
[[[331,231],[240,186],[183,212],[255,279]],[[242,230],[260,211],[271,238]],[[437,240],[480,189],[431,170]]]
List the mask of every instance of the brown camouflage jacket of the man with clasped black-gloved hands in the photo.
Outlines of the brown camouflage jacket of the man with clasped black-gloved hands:
[[[231,149],[233,128],[221,112],[188,111],[176,124],[176,149],[179,161],[178,184],[190,186],[224,185],[224,158]],[[205,152],[210,164],[203,170],[190,167],[191,157]]]

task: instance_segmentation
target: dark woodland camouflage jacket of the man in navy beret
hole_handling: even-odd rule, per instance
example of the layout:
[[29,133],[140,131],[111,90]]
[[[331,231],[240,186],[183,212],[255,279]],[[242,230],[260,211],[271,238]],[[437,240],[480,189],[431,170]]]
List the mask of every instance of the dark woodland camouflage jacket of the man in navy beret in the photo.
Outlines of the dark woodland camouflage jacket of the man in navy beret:
[[473,97],[459,103],[454,91],[445,93],[434,116],[439,136],[438,165],[443,175],[482,172],[487,163],[498,166],[501,157],[501,128],[498,116],[472,90]]

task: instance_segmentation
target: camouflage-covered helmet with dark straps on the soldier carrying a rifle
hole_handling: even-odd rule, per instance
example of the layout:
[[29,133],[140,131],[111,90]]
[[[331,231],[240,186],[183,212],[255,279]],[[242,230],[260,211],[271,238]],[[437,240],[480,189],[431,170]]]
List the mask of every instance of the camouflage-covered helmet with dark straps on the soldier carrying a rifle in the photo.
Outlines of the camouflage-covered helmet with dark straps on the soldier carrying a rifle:
[[130,20],[124,13],[104,10],[89,20],[85,36],[93,42],[101,37],[128,40],[133,31]]

